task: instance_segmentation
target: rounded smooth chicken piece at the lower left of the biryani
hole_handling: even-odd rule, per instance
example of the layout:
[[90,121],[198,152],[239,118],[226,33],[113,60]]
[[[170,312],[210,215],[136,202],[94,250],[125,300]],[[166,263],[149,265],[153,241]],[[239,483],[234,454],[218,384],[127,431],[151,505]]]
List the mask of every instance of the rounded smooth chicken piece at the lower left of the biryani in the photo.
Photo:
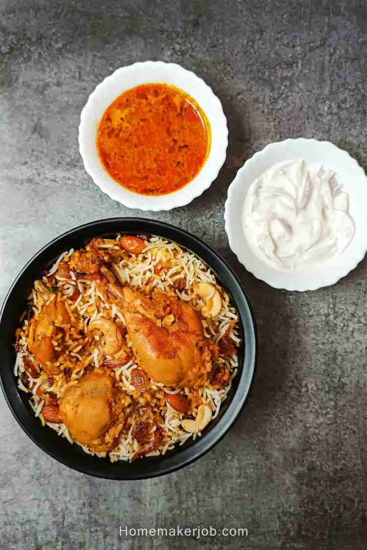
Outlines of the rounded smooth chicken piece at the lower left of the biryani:
[[124,422],[119,395],[108,373],[88,372],[63,394],[59,406],[70,435],[95,450],[111,448]]

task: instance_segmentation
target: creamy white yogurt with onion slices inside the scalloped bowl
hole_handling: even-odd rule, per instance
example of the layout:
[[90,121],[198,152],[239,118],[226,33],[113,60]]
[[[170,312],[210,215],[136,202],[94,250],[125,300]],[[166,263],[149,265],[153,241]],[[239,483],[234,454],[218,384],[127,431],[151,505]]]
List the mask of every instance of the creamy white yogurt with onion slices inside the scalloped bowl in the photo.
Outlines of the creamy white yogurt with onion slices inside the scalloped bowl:
[[354,236],[349,196],[335,173],[302,158],[275,164],[250,185],[243,229],[273,267],[294,269],[339,255]]

